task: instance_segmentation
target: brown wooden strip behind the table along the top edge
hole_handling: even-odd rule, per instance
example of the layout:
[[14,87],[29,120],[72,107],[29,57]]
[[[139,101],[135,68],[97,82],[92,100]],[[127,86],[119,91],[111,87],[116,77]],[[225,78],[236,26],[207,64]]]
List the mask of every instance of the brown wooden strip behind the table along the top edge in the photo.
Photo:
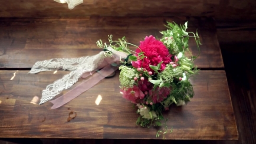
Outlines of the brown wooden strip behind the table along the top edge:
[[84,0],[73,10],[53,0],[1,0],[0,17],[215,16],[256,19],[255,0]]

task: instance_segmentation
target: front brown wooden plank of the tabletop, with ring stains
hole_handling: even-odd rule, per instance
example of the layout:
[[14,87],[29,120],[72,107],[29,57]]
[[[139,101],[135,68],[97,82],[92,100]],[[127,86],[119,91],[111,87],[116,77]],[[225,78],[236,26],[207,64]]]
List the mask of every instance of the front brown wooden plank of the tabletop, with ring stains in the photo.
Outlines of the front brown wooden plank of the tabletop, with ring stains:
[[[10,80],[14,72],[16,76]],[[0,104],[0,109],[3,109],[0,111],[0,137],[156,138],[156,129],[136,126],[138,114],[131,102],[119,93],[118,73],[66,105],[50,109],[50,102],[38,105],[35,97],[40,98],[46,85],[68,72],[41,72],[36,75],[28,75],[27,72],[0,71],[0,98],[16,100],[11,111],[5,111],[5,106]],[[79,79],[76,85],[81,82]],[[166,139],[237,139],[225,71],[201,71],[192,84],[195,96],[191,102],[182,107],[172,106],[164,113],[169,119],[168,127],[173,127],[173,132],[166,134]],[[102,101],[95,105],[98,95],[102,96]],[[76,117],[68,121],[71,111],[76,113]]]

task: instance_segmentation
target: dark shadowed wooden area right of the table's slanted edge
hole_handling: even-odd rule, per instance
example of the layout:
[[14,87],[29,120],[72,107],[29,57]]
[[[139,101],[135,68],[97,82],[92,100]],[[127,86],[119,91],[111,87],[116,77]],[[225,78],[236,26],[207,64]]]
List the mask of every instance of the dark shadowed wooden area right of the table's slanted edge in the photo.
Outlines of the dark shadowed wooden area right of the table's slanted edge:
[[[239,131],[239,140],[233,144],[256,144],[255,46],[251,43],[238,43],[239,41],[221,45]],[[234,62],[237,55],[243,61]],[[236,65],[243,65],[242,69],[236,69]]]

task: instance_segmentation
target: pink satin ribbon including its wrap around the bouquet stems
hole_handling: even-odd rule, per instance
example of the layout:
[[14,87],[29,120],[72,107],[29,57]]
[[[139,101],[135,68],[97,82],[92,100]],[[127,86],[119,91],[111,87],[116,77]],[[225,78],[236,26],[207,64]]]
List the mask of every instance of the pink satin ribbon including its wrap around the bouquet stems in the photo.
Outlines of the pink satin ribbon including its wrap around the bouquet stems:
[[50,101],[53,103],[53,106],[51,109],[59,108],[62,105],[65,105],[72,99],[78,97],[81,95],[83,92],[87,91],[88,89],[92,88],[94,85],[96,85],[98,82],[100,82],[102,79],[107,77],[108,75],[111,75],[113,72],[115,72],[118,67],[114,67],[111,64],[114,62],[118,62],[119,59],[125,58],[127,56],[126,54],[123,54],[122,52],[120,53],[115,53],[115,55],[112,56],[112,58],[105,58],[104,62],[102,62],[102,65],[98,67],[98,69],[101,69],[99,72],[95,73],[92,75],[96,70],[92,72],[86,72],[84,73],[81,77],[85,79],[86,77],[92,75],[89,79],[87,79],[85,82],[82,82],[66,94],[60,96],[59,98],[56,98],[55,100]]

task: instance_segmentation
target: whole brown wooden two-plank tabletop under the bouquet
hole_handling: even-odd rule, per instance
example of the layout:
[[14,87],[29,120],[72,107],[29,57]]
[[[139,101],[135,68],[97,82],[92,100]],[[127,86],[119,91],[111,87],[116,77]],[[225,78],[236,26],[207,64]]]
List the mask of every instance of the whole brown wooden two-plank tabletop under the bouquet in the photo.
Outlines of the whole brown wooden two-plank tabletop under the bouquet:
[[[37,61],[51,58],[94,55],[102,49],[96,41],[126,36],[136,45],[145,36],[164,30],[165,21],[198,28],[201,54],[195,64],[201,68],[192,79],[195,96],[187,105],[172,106],[164,115],[173,128],[165,139],[236,140],[238,133],[214,21],[210,18],[174,17],[85,17],[75,19],[0,20],[0,137],[33,138],[156,138],[155,128],[135,124],[138,114],[119,93],[118,74],[103,79],[66,105],[50,109],[38,105],[46,85],[69,72],[40,72],[28,75]],[[193,39],[190,49],[197,54]],[[79,79],[79,83],[82,79]],[[77,85],[76,84],[76,85]],[[68,90],[62,92],[66,93]],[[102,96],[95,105],[98,95]],[[158,137],[161,139],[162,137]]]

